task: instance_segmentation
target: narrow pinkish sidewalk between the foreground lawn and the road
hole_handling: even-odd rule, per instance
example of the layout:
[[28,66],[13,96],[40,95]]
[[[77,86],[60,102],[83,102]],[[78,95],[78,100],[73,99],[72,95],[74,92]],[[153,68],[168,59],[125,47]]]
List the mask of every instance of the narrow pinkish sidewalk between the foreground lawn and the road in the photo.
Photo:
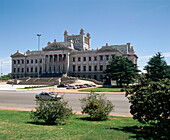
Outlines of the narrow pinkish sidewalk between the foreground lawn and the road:
[[[0,110],[35,111],[34,108],[13,108],[13,107],[5,107],[5,106],[0,106]],[[80,111],[73,111],[73,113],[82,114]],[[120,113],[110,113],[109,116],[132,117],[131,114],[120,114]]]

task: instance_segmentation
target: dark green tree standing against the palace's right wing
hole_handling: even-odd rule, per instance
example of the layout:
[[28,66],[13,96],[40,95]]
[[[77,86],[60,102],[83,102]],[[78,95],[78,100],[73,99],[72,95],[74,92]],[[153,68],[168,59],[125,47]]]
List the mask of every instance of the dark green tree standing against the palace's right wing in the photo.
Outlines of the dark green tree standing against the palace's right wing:
[[138,72],[137,65],[122,56],[115,56],[104,70],[106,77],[116,80],[117,86],[134,82]]

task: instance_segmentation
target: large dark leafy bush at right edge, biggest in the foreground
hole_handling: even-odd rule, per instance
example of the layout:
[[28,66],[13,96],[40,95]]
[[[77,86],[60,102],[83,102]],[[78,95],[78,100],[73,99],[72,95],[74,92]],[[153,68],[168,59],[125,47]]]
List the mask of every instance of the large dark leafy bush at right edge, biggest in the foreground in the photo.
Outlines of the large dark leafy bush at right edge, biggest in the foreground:
[[148,81],[145,76],[138,85],[126,90],[131,114],[141,123],[166,129],[170,117],[170,79]]

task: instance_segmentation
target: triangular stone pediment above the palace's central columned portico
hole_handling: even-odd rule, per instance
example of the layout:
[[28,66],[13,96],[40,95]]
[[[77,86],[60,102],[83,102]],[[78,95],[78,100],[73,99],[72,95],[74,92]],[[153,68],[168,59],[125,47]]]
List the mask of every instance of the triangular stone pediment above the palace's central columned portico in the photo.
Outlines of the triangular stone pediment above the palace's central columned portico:
[[43,48],[42,50],[43,51],[55,51],[55,50],[71,50],[71,49],[60,43],[52,43],[52,44],[49,44],[47,47]]

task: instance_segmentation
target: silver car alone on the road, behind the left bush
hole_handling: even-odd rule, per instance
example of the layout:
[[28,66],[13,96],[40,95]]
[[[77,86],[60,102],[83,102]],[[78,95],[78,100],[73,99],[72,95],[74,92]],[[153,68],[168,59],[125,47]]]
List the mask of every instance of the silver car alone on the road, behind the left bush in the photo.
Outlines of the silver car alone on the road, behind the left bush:
[[36,99],[61,99],[61,95],[55,95],[53,92],[41,92],[40,94],[35,95]]

